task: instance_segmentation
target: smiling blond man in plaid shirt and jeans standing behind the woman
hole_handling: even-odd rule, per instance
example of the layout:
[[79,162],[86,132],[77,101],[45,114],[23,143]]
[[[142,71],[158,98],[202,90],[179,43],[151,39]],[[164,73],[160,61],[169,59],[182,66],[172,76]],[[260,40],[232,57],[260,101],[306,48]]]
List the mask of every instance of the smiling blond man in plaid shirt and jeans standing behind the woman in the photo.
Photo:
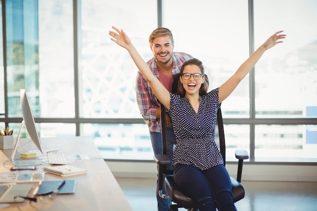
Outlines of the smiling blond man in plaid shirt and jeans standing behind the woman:
[[[154,57],[147,64],[153,74],[159,78],[167,90],[172,92],[173,75],[180,72],[183,63],[193,57],[181,52],[173,52],[174,38],[172,32],[164,27],[155,29],[149,36],[149,44]],[[147,81],[139,71],[136,78],[137,102],[140,113],[148,125],[154,154],[162,154],[160,102],[155,97]],[[173,130],[167,131],[168,142],[176,143]],[[163,186],[163,192],[165,188]],[[166,194],[166,191],[164,192]],[[161,198],[156,191],[157,208],[167,211],[170,199]]]

